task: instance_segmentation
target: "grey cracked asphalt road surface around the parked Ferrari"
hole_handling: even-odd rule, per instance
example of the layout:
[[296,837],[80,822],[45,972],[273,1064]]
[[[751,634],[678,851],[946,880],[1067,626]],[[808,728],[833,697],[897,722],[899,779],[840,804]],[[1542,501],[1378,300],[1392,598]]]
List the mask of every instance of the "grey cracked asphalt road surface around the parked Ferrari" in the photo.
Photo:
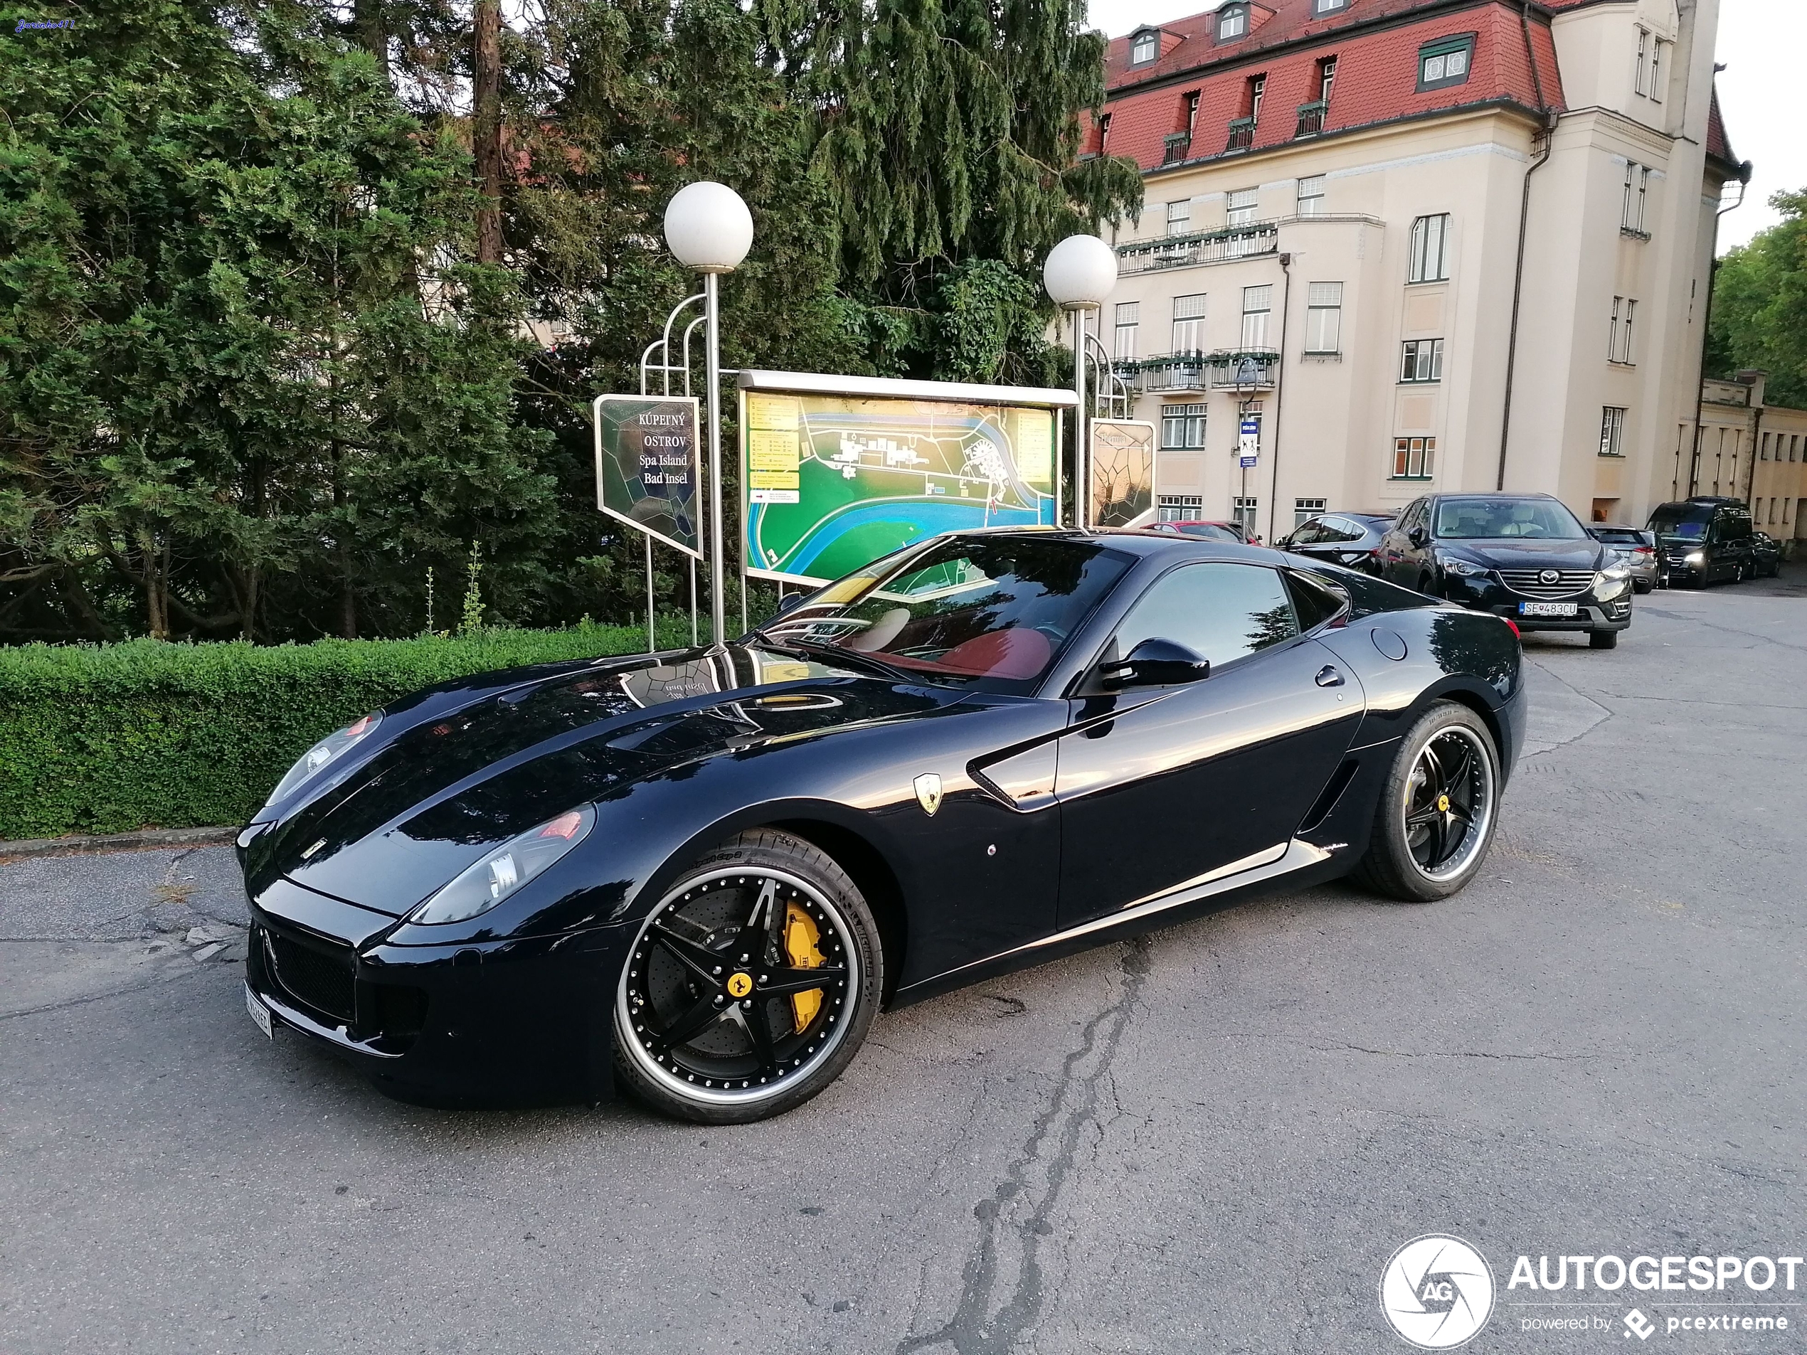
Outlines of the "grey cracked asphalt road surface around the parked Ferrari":
[[[1464,894],[1278,896],[882,1015],[743,1129],[383,1100],[253,1030],[226,849],[0,865],[0,1351],[1404,1351],[1377,1283],[1426,1232],[1494,1270],[1473,1351],[1807,1299],[1590,1294],[1610,1330],[1554,1335],[1505,1288],[1803,1252],[1807,576],[1527,658]],[[1650,1348],[1807,1348],[1764,1312]]]

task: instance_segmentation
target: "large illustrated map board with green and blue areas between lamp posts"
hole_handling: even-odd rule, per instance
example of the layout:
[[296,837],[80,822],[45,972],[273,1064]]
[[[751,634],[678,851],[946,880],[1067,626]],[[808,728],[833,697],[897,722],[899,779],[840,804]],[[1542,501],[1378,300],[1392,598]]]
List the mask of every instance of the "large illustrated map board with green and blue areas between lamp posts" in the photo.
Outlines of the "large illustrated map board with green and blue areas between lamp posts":
[[813,584],[970,528],[1053,524],[1064,390],[741,374],[746,569]]

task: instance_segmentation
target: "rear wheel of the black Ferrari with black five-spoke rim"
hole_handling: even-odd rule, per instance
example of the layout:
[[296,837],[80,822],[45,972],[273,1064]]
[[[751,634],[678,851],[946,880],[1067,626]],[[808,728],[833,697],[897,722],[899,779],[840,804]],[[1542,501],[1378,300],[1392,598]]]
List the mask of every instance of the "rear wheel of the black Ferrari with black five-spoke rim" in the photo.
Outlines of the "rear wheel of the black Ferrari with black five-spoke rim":
[[1361,876],[1408,903],[1449,898],[1493,844],[1500,757],[1485,721],[1438,701],[1400,739]]

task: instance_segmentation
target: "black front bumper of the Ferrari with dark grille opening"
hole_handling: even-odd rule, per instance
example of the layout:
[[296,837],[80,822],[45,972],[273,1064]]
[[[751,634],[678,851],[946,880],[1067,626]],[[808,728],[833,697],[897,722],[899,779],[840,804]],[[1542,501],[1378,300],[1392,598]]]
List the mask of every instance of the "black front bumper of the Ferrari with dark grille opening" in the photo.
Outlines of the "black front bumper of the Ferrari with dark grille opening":
[[251,902],[246,983],[376,1086],[434,1106],[613,1095],[613,999],[632,927],[401,947],[399,923],[278,882]]

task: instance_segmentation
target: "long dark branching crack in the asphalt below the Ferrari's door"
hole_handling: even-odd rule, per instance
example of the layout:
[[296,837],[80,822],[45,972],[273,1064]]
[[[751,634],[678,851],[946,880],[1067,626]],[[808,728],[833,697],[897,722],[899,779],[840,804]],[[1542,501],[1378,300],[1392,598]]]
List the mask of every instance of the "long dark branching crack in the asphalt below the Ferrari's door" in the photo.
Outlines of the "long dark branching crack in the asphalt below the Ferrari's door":
[[[1122,990],[1117,1001],[1093,1015],[1084,1028],[1079,1048],[1061,1064],[1061,1079],[1048,1097],[1046,1107],[1035,1117],[1023,1151],[1005,1169],[1005,1180],[985,1200],[972,1207],[979,1220],[979,1239],[967,1256],[963,1285],[954,1315],[945,1326],[898,1344],[896,1355],[952,1346],[960,1355],[1008,1355],[1041,1317],[1043,1266],[1041,1241],[1053,1234],[1048,1221],[1061,1191],[1066,1185],[1079,1140],[1086,1126],[1099,1120],[1100,1089],[1109,1082],[1111,1062],[1122,1033],[1135,1015],[1142,985],[1149,972],[1149,939],[1138,936],[1122,947]],[[1090,1061],[1090,1070],[1081,1066]],[[1111,1093],[1115,1097],[1115,1089]],[[1052,1145],[1052,1158],[1044,1153]],[[1044,1185],[1035,1198],[1030,1173],[1043,1169]],[[1012,1210],[1016,1205],[1016,1210]],[[1025,1218],[1012,1218],[1012,1212]],[[992,1312],[994,1290],[999,1288],[999,1261],[1010,1241],[1021,1245],[1016,1283],[1008,1297]]]

